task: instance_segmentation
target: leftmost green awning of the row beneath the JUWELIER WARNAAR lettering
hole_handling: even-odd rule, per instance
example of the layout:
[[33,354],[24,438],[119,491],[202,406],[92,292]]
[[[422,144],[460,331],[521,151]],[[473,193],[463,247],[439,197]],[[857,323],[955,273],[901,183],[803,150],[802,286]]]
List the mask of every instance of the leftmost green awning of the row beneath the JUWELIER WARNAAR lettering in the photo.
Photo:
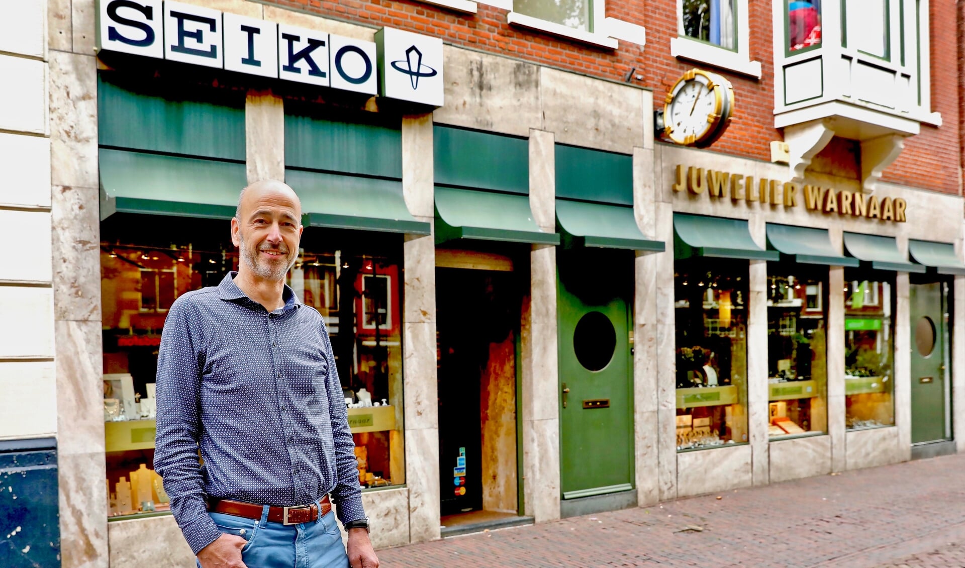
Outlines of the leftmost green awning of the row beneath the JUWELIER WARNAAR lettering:
[[675,213],[674,257],[778,260],[781,254],[758,247],[743,219]]

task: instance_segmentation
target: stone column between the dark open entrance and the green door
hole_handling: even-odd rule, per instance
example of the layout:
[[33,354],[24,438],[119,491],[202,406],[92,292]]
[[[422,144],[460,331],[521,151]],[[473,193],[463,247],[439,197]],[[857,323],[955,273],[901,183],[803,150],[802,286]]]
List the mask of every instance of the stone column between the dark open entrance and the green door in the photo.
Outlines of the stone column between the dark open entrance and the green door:
[[[530,207],[540,230],[556,232],[556,169],[552,132],[530,129]],[[556,247],[530,252],[530,298],[522,341],[523,495],[537,523],[560,518]]]

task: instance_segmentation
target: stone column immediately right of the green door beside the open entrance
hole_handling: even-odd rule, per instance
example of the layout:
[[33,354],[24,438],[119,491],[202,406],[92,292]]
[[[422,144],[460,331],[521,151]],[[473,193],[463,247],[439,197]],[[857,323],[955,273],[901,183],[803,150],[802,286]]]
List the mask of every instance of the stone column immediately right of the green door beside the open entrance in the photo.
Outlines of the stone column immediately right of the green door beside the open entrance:
[[[652,94],[645,92],[652,97]],[[647,108],[647,105],[645,105]],[[645,113],[645,116],[648,116]],[[633,204],[637,225],[656,239],[653,138],[633,149]],[[647,146],[649,148],[647,148]],[[673,244],[668,245],[673,250]],[[666,253],[664,253],[666,254]],[[673,253],[671,253],[673,254]],[[660,500],[659,421],[657,419],[657,262],[659,254],[637,253],[633,297],[633,423],[637,504]]]

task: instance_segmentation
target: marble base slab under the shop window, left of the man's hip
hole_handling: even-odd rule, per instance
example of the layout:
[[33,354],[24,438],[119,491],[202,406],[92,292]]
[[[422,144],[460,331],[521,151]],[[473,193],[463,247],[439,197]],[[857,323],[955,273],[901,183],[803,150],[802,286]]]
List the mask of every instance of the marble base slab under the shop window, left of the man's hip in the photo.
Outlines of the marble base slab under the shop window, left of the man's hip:
[[184,568],[195,565],[195,556],[171,515],[108,523],[107,538],[111,568]]

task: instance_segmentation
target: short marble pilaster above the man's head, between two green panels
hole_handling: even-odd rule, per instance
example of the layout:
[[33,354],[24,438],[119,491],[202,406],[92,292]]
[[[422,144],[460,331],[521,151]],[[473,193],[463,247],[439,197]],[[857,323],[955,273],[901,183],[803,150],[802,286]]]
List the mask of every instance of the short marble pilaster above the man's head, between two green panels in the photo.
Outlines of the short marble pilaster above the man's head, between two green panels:
[[[285,179],[285,103],[271,91],[248,91],[244,104],[248,183]],[[240,191],[240,188],[239,188]]]

